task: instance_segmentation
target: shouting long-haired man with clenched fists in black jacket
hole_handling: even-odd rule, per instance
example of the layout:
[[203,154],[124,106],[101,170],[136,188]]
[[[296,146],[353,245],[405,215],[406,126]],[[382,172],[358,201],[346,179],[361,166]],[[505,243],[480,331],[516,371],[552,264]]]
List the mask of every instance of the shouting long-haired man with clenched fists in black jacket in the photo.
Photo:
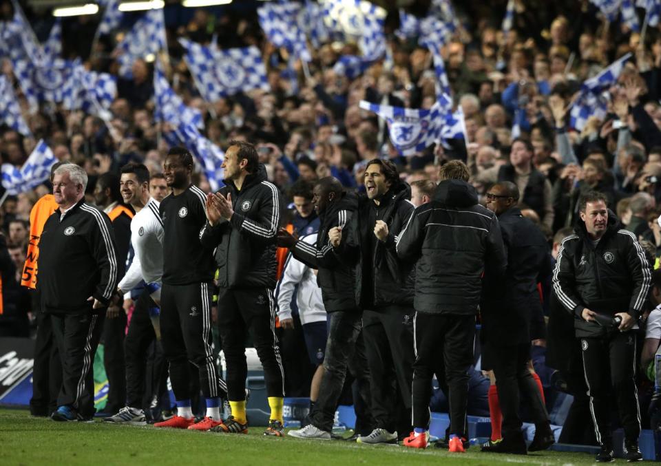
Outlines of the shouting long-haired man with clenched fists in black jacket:
[[[413,283],[400,264],[395,237],[413,212],[411,189],[389,160],[365,167],[367,197],[345,231],[330,231],[343,262],[355,267],[356,301],[363,310],[363,335],[370,374],[375,430],[359,443],[397,443],[410,432],[413,379]],[[395,380],[393,380],[395,379]]]

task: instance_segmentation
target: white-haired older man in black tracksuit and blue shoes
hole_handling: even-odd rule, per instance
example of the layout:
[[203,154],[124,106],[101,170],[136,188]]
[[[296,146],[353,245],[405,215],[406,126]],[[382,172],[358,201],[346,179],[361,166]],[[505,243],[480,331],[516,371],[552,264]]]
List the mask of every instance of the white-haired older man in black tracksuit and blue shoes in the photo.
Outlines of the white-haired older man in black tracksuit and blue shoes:
[[54,421],[94,415],[92,361],[105,310],[124,264],[117,262],[107,215],[85,204],[87,173],[78,165],[54,172],[59,210],[43,226],[39,241],[41,309],[50,313],[62,359],[62,388]]

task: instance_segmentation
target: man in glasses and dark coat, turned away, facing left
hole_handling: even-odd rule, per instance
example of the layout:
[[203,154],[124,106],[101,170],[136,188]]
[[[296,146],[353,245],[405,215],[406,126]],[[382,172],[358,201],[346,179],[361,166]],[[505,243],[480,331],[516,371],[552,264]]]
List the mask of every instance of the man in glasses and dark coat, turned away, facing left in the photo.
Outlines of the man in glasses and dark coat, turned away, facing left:
[[[480,305],[482,321],[483,370],[491,369],[496,378],[498,399],[503,412],[503,439],[482,447],[494,453],[526,454],[547,449],[554,443],[549,415],[534,377],[529,370],[531,321],[543,319],[537,283],[551,275],[551,257],[546,238],[518,209],[518,187],[503,181],[487,192],[487,209],[496,214],[507,251],[505,293],[500,277],[485,276]],[[496,286],[489,286],[495,282]],[[521,393],[529,400],[535,423],[535,438],[529,448],[521,433],[518,414]]]

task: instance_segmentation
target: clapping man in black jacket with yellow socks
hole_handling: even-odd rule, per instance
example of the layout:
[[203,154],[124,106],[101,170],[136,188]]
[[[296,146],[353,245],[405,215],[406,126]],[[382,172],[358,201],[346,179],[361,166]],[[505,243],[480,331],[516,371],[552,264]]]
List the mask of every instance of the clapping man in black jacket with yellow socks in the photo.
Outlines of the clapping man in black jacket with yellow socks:
[[271,407],[264,435],[282,436],[284,373],[274,330],[273,299],[280,196],[266,180],[266,170],[258,160],[252,144],[230,142],[223,163],[227,186],[220,193],[207,195],[209,222],[200,232],[202,245],[216,248],[218,328],[227,361],[227,395],[232,408],[232,416],[213,430],[246,431],[245,335],[249,330],[264,366]]

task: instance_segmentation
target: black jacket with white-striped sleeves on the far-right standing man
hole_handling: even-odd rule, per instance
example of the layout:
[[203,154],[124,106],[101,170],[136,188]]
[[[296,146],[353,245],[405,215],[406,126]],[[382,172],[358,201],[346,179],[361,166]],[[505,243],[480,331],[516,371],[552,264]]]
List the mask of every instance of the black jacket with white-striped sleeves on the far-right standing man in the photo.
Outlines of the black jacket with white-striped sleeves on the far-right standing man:
[[554,293],[576,317],[576,337],[602,337],[607,328],[583,320],[583,309],[640,317],[651,283],[651,267],[636,236],[609,211],[607,229],[596,246],[578,218],[574,235],[563,240],[553,272]]

